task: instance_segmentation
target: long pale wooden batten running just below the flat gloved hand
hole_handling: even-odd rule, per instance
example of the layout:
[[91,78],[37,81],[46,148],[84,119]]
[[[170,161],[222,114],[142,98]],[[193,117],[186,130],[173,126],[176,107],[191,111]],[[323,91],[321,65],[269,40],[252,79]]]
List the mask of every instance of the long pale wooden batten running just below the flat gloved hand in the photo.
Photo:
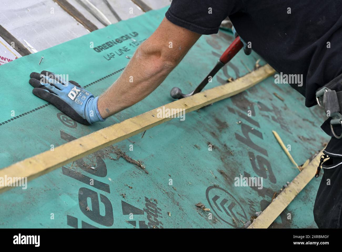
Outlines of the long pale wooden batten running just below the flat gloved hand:
[[[169,121],[172,117],[176,117],[177,111],[175,111],[175,109],[184,109],[184,113],[197,110],[201,107],[215,103],[216,101],[236,95],[274,73],[275,70],[272,67],[268,64],[264,65],[233,82],[166,104],[165,108],[171,109],[172,111],[170,118],[159,118],[157,116],[158,109],[163,108],[163,106],[161,106],[139,116],[124,120],[120,123],[55,147],[54,151],[46,151],[5,167],[0,170],[0,177],[27,177],[28,180],[37,178],[102,148]],[[186,120],[180,123],[186,123]],[[0,185],[0,192],[10,188],[11,187]]]

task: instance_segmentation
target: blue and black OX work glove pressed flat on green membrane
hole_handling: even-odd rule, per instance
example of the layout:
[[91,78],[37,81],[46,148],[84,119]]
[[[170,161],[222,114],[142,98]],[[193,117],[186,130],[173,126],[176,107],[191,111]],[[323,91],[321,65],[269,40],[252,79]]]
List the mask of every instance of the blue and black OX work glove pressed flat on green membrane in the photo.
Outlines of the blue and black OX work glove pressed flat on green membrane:
[[60,75],[49,71],[30,74],[32,93],[51,103],[75,121],[90,125],[104,121],[97,109],[98,97],[82,88],[75,81],[65,81]]

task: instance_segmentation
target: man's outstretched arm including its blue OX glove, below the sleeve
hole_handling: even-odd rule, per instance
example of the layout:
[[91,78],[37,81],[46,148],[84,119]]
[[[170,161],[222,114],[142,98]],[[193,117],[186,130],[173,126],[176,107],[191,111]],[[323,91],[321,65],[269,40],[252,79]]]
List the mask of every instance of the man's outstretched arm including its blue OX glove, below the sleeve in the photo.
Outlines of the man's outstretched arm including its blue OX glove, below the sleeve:
[[119,79],[101,96],[94,97],[77,82],[67,83],[49,71],[30,74],[32,93],[79,123],[103,121],[152,93],[199,37],[200,34],[164,18],[157,30],[136,49]]

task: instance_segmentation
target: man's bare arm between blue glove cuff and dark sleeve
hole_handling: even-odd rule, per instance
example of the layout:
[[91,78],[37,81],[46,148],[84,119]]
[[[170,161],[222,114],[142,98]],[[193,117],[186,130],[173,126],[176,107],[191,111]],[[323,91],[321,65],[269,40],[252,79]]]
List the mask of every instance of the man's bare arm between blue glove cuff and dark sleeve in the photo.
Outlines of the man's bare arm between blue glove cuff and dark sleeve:
[[136,49],[119,79],[98,99],[101,117],[114,115],[152,93],[200,36],[164,18],[156,31]]

